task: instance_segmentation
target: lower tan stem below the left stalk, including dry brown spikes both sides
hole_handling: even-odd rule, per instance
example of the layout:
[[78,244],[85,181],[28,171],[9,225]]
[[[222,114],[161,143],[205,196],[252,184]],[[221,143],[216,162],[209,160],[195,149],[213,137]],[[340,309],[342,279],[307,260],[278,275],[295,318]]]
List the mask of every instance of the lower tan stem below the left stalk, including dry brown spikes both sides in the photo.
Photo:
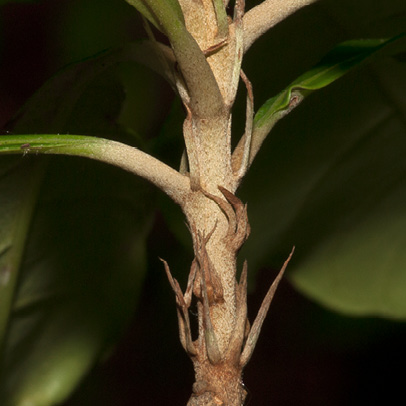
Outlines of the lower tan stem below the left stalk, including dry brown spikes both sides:
[[[193,238],[195,259],[183,294],[170,274],[176,294],[181,343],[192,359],[195,383],[188,406],[242,406],[247,392],[242,371],[255,348],[262,323],[285,262],[270,287],[252,327],[247,319],[247,264],[237,282],[236,257],[249,235],[246,206],[229,190],[222,197],[204,189],[191,191],[183,210]],[[198,338],[192,340],[189,308],[197,299]]]

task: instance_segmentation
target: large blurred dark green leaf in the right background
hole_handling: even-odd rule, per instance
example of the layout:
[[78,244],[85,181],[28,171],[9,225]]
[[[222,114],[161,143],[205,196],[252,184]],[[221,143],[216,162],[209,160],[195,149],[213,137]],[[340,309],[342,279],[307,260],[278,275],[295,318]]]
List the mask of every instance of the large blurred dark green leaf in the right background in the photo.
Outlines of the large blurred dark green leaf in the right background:
[[406,319],[405,84],[406,66],[382,60],[275,128],[244,184],[251,267],[279,266],[295,245],[287,275],[301,292]]

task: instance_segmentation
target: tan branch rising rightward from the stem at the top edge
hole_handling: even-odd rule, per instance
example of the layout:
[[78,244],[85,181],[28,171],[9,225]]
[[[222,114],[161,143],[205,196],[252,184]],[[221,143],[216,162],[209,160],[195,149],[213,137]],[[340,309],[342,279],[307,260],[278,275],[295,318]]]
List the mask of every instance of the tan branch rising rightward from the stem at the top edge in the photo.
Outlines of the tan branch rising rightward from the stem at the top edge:
[[262,34],[317,0],[265,0],[244,15],[244,53]]

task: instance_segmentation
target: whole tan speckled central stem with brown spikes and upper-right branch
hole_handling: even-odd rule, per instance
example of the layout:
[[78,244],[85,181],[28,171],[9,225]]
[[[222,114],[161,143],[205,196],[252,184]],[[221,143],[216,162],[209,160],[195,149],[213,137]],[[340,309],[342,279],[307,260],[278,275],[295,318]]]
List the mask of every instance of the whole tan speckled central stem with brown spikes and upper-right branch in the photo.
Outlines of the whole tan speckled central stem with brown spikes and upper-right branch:
[[[241,382],[242,370],[251,357],[287,265],[268,292],[251,328],[247,320],[246,263],[240,281],[236,278],[237,254],[250,233],[247,206],[235,196],[249,166],[253,119],[252,87],[249,79],[241,74],[242,56],[244,47],[248,49],[268,28],[313,1],[267,0],[244,16],[245,1],[236,0],[231,17],[226,16],[224,9],[219,11],[222,3],[218,0],[179,0],[186,28],[193,37],[193,49],[196,50],[197,44],[202,52],[190,55],[196,55],[199,63],[203,60],[208,64],[203,65],[210,67],[210,75],[205,71],[206,79],[212,81],[213,73],[216,82],[210,94],[217,95],[219,90],[222,98],[215,108],[210,108],[213,104],[205,104],[201,94],[196,97],[194,91],[204,89],[199,82],[204,78],[190,76],[198,71],[193,65],[196,61],[188,58],[179,61],[179,84],[181,73],[185,79],[178,88],[185,83],[180,93],[187,112],[183,133],[190,189],[177,202],[186,216],[195,255],[184,292],[172,277],[169,265],[164,262],[164,266],[176,297],[180,341],[195,370],[196,382],[188,406],[243,405],[246,392]],[[246,125],[247,134],[238,151],[239,157],[232,165],[231,108],[240,75],[248,94],[247,120],[251,121]],[[217,102],[219,98],[213,100]],[[189,320],[192,295],[198,310],[198,338],[194,341]]]

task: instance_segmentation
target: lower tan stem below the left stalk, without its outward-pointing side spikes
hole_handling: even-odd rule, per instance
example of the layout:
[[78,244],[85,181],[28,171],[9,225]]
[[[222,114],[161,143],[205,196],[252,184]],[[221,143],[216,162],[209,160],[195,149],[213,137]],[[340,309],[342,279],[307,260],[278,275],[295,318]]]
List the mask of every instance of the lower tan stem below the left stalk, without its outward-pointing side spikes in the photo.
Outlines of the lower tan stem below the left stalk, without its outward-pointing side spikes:
[[193,293],[199,335],[193,342],[196,352],[189,353],[196,382],[188,406],[241,406],[246,397],[239,362],[246,323],[238,321],[241,315],[246,318],[246,296],[239,293],[236,254],[249,228],[244,206],[233,198],[234,206],[224,197],[200,191],[193,192],[184,205],[198,266]]

